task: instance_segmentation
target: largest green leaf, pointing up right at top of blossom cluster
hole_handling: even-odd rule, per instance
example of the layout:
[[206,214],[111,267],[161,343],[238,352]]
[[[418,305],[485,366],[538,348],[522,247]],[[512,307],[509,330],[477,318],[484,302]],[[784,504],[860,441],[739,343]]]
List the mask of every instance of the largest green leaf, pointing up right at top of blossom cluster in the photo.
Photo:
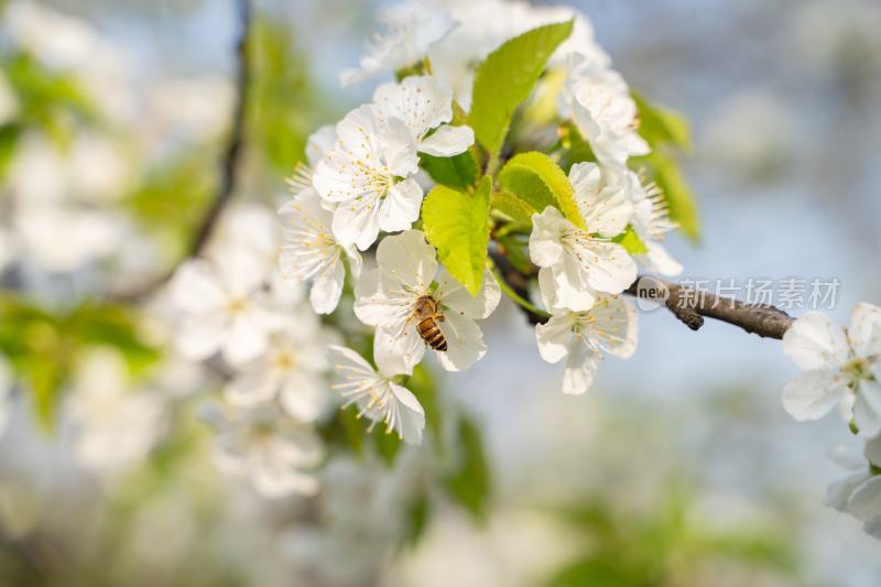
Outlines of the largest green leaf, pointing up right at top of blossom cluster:
[[530,96],[547,59],[572,29],[573,21],[567,21],[527,31],[490,53],[477,68],[469,126],[491,157],[501,150],[514,110]]

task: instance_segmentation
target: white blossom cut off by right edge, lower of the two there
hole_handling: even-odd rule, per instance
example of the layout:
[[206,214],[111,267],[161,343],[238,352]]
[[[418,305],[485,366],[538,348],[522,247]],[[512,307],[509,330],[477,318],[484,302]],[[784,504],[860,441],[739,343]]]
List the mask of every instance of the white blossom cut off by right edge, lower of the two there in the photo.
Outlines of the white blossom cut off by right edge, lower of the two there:
[[850,472],[829,485],[824,502],[850,513],[868,534],[881,539],[881,436],[867,441],[861,456],[836,447],[829,458]]

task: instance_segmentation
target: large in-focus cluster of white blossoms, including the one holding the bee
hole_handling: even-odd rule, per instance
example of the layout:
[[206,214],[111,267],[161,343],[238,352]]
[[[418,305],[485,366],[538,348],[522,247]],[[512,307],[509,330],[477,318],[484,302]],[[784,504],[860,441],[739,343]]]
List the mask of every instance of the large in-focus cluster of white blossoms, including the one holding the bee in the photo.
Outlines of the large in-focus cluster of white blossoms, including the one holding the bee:
[[[313,135],[309,169],[294,183],[295,199],[280,210],[283,274],[312,280],[313,307],[329,313],[348,263],[355,314],[376,328],[379,369],[336,349],[338,388],[361,415],[416,442],[424,413],[395,379],[411,373],[426,349],[447,370],[467,369],[487,352],[477,320],[496,308],[499,285],[486,271],[479,293],[470,295],[438,268],[423,232],[411,229],[426,181],[420,154],[449,157],[474,143],[471,129],[452,121],[456,108],[465,112],[471,102],[475,64],[530,29],[573,20],[574,32],[550,66],[566,76],[563,118],[577,124],[598,162],[578,163],[569,172],[584,222],[548,206],[532,218],[529,250],[541,268],[542,302],[552,316],[536,330],[541,355],[551,362],[567,358],[563,389],[584,393],[602,352],[633,352],[635,313],[617,295],[637,279],[638,262],[665,274],[682,269],[661,243],[675,226],[663,199],[627,169],[628,156],[648,153],[627,85],[594,42],[588,20],[570,9],[425,0],[388,9],[382,20],[388,30],[342,81],[390,73],[402,79],[380,86],[371,104]],[[634,258],[616,242],[626,230],[633,230],[648,252]],[[360,272],[358,250],[371,250],[378,238],[377,268]]]

